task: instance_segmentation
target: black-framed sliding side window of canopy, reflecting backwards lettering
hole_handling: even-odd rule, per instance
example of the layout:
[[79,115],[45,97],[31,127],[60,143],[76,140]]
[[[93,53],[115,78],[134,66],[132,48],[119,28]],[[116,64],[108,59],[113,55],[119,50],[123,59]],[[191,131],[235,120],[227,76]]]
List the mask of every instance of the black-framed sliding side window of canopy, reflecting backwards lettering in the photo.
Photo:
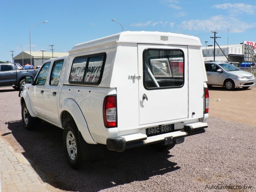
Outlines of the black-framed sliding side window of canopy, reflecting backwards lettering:
[[105,61],[106,53],[76,57],[72,63],[69,83],[99,85]]

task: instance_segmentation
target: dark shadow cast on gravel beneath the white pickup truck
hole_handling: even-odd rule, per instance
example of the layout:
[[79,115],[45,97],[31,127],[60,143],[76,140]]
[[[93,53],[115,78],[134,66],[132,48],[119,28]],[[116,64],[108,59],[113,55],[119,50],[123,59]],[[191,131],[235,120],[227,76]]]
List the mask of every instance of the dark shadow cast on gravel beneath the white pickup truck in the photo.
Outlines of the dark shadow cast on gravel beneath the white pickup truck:
[[62,129],[43,121],[32,131],[24,129],[21,120],[6,124],[24,149],[23,156],[41,179],[55,188],[99,191],[180,169],[177,163],[168,160],[172,157],[169,151],[156,152],[145,146],[123,153],[106,149],[103,161],[88,163],[81,170],[74,170],[64,156]]

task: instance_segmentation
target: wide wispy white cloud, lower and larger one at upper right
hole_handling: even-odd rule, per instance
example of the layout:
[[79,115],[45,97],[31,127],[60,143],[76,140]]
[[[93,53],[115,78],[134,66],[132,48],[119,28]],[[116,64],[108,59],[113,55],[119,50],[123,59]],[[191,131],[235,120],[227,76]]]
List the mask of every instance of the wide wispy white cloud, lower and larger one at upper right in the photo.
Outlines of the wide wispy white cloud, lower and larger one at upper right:
[[187,30],[227,30],[228,28],[232,30],[236,30],[233,32],[243,32],[246,28],[255,27],[255,23],[249,24],[247,22],[236,19],[235,17],[229,16],[225,17],[222,15],[214,16],[205,20],[185,20],[178,26],[179,28],[187,29]]

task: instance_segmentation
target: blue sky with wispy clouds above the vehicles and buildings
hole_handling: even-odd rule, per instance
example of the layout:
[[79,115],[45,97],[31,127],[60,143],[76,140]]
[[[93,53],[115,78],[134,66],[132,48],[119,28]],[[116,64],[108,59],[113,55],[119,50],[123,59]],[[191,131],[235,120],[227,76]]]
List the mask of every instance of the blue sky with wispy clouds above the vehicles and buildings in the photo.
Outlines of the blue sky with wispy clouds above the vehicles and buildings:
[[[0,60],[29,51],[67,52],[78,43],[122,31],[162,31],[198,36],[203,46],[256,41],[256,1],[238,0],[0,0]],[[229,32],[228,32],[229,30]]]

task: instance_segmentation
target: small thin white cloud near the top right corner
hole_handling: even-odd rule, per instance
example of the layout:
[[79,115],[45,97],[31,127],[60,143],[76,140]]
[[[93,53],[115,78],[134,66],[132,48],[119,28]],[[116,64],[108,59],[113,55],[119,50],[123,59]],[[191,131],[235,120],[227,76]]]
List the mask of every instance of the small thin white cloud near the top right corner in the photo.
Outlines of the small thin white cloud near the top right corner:
[[250,15],[255,14],[255,5],[248,5],[243,3],[224,3],[213,5],[213,8],[228,10],[231,13],[248,13]]

